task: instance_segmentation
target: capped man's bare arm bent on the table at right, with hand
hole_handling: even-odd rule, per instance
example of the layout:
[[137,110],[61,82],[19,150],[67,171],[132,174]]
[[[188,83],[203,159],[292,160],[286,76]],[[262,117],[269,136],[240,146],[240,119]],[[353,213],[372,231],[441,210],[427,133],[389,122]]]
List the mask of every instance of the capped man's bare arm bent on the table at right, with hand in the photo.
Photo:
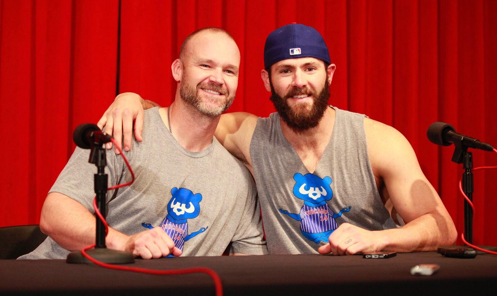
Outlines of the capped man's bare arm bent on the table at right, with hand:
[[457,232],[433,186],[422,173],[414,150],[393,127],[365,119],[369,159],[375,177],[406,225],[398,229],[367,231],[344,223],[330,236],[320,253],[354,254],[390,250],[431,251],[450,245]]

